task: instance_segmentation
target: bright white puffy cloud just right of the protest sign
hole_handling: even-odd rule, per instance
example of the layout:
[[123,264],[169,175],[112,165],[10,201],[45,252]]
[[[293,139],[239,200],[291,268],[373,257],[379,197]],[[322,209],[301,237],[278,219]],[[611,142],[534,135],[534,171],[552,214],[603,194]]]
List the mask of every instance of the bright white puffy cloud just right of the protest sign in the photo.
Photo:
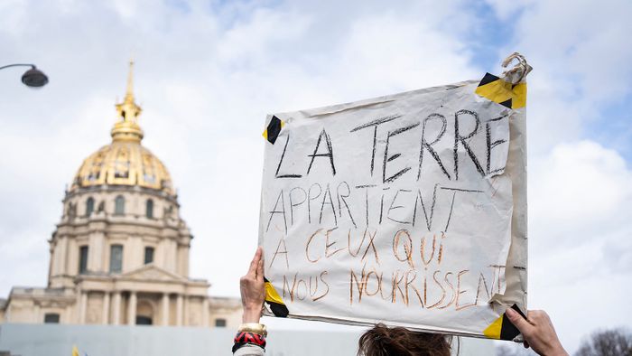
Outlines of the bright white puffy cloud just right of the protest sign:
[[632,198],[632,174],[617,152],[590,141],[561,144],[536,161],[531,176],[532,218],[546,225],[594,224],[618,215]]

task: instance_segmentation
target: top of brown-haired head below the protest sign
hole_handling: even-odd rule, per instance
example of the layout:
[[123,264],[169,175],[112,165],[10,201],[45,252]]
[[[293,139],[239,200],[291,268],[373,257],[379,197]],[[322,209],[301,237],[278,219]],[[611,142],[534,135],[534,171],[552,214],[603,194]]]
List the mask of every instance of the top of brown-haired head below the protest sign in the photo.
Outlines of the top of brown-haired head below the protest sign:
[[382,323],[360,336],[358,356],[450,356],[451,336],[411,332]]

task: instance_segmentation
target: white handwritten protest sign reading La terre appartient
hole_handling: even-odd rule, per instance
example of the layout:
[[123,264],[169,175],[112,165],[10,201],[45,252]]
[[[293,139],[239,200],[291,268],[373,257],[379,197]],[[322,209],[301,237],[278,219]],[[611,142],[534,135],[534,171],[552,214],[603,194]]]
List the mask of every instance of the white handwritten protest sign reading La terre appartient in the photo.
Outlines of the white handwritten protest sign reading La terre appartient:
[[488,74],[268,116],[269,313],[513,339],[502,315],[526,307],[524,97],[525,83]]

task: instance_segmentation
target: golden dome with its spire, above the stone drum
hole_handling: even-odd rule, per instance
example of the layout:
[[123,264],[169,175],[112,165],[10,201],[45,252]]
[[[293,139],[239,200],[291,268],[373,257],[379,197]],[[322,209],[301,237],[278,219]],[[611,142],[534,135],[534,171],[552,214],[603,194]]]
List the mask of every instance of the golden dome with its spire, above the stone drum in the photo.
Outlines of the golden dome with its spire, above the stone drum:
[[130,62],[127,92],[116,104],[119,121],[111,131],[112,143],[89,155],[72,180],[70,192],[96,185],[141,186],[172,195],[172,178],[164,164],[141,145],[143,130],[138,126],[141,108],[136,105],[133,85],[134,62]]

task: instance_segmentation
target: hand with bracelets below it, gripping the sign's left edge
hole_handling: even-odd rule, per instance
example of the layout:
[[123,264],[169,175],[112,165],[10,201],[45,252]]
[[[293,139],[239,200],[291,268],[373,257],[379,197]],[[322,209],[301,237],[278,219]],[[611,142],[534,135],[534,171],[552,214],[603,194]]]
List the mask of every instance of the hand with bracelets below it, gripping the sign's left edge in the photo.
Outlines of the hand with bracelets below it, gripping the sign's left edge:
[[261,309],[265,301],[263,254],[262,248],[256,248],[248,273],[239,279],[241,304],[244,307],[242,323],[259,323],[261,318]]

